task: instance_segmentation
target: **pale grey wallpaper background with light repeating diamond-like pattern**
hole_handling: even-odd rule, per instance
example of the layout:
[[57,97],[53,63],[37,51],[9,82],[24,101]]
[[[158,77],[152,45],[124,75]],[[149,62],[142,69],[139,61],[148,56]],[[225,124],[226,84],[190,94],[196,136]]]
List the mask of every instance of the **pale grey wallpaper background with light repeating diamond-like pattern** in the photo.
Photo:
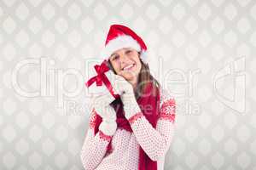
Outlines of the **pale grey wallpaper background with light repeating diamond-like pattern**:
[[[184,74],[183,83],[166,85],[178,106],[165,169],[256,169],[255,1],[0,4],[0,169],[83,169],[79,151],[90,99],[83,84],[86,61],[99,54],[113,23],[143,37],[150,68],[162,84],[166,77],[180,80],[181,74],[169,77],[171,69]],[[33,64],[15,73],[23,61]],[[192,79],[189,71],[196,71]],[[219,72],[227,74],[218,79],[217,93]],[[36,94],[26,96],[17,87]],[[236,99],[227,104],[234,91]]]

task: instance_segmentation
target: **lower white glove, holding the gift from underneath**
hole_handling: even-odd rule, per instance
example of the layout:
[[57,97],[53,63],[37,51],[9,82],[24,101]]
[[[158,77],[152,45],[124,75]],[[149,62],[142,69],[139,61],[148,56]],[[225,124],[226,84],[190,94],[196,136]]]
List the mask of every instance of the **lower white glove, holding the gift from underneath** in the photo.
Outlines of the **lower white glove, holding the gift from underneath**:
[[102,94],[93,97],[91,104],[91,107],[95,109],[96,113],[102,117],[99,130],[109,136],[112,136],[117,128],[116,112],[113,107],[109,105],[111,102],[112,100],[108,98],[108,94]]

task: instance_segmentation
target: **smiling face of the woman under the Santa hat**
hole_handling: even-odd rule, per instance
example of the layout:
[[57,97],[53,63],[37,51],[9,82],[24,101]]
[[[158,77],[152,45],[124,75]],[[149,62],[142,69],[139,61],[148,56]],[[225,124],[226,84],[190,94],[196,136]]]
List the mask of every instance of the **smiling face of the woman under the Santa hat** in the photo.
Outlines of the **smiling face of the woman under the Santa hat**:
[[120,48],[111,54],[109,61],[119,76],[124,77],[128,82],[137,80],[142,68],[137,50]]

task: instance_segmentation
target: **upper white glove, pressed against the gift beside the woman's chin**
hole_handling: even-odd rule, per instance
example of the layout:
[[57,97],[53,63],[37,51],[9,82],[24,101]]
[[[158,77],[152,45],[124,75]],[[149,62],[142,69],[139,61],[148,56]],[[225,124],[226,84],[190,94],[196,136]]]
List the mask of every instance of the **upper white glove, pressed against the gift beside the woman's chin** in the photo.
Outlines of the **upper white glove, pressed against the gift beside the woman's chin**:
[[120,94],[120,98],[124,104],[126,119],[141,111],[139,105],[137,105],[137,100],[130,82],[126,81],[124,77],[115,75],[115,80],[112,84],[113,88]]

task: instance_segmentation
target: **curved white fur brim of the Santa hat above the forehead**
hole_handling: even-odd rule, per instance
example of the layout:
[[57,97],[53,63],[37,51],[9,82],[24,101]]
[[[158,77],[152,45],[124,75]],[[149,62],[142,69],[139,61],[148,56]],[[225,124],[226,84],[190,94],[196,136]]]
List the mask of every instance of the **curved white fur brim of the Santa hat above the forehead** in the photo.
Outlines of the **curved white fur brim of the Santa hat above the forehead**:
[[122,35],[113,38],[107,43],[105,48],[102,50],[102,59],[108,59],[114,51],[120,48],[134,48],[137,51],[141,51],[141,46],[135,39],[128,35]]

